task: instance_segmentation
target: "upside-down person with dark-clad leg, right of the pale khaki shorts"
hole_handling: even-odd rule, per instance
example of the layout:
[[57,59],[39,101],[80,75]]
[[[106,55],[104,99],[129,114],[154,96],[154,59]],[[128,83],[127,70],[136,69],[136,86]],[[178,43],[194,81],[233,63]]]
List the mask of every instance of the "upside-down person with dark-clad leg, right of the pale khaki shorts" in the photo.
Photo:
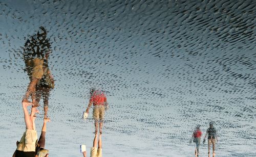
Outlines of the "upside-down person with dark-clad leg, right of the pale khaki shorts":
[[35,155],[35,157],[48,157],[48,152],[49,150],[45,149],[45,143],[46,143],[46,123],[49,122],[50,119],[49,118],[45,118],[44,119],[44,124],[42,125],[42,131],[41,131],[41,135],[40,138],[37,142],[37,154]]

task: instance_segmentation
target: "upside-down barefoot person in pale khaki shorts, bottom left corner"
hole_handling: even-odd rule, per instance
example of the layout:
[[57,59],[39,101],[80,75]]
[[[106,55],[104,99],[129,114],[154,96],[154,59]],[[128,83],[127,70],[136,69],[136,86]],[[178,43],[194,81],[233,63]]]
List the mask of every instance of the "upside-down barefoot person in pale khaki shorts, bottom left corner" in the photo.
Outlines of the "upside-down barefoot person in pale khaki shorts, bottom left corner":
[[26,124],[26,132],[23,134],[20,141],[16,142],[17,148],[13,157],[34,157],[35,145],[37,142],[37,132],[35,130],[35,114],[38,113],[35,107],[32,107],[31,114],[29,115],[28,106],[32,103],[23,102],[24,119]]

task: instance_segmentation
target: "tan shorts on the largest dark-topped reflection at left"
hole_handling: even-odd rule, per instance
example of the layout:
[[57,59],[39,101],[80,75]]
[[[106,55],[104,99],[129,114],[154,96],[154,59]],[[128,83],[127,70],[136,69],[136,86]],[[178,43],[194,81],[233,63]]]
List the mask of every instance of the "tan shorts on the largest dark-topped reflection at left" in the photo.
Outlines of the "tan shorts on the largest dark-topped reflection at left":
[[44,64],[44,60],[41,59],[34,59],[33,60],[34,67],[31,71],[32,78],[41,79],[42,75],[44,75],[44,69],[42,68],[42,65]]

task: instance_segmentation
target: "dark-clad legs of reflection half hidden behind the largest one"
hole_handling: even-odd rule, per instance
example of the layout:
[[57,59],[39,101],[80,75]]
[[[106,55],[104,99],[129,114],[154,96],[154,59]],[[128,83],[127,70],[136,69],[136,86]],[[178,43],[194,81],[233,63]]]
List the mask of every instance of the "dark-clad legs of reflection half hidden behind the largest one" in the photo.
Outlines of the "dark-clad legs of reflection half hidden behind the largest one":
[[45,116],[44,118],[47,118],[48,113],[48,103],[49,103],[49,96],[50,96],[50,88],[44,88],[44,87],[36,87],[36,102],[38,103],[41,99],[44,100],[44,111]]

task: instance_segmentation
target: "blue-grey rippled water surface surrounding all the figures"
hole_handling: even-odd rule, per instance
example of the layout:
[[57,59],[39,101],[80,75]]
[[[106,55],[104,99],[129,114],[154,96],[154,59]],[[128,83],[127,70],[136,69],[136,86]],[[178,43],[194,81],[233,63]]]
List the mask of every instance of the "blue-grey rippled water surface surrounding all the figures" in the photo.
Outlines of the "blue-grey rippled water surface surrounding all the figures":
[[210,121],[216,156],[256,156],[255,1],[0,1],[0,10],[1,156],[25,130],[21,52],[40,26],[55,78],[50,156],[92,146],[92,109],[81,119],[91,87],[110,104],[103,156],[193,156],[193,129],[201,124],[204,136]]

